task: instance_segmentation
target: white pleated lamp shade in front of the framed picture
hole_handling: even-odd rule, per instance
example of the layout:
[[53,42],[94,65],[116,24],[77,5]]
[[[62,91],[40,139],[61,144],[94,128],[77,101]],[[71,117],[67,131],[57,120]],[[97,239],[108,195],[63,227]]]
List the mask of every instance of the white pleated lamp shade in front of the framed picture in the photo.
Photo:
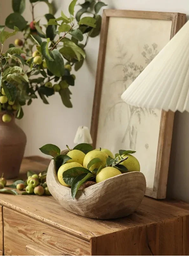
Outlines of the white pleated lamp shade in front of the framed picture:
[[137,107],[189,112],[189,21],[132,82],[121,98]]

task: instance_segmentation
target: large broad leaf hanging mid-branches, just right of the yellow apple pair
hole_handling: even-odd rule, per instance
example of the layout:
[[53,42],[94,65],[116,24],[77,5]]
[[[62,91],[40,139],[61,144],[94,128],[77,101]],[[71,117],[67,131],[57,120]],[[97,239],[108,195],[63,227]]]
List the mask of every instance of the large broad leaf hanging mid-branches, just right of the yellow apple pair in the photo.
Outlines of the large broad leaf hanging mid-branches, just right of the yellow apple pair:
[[57,49],[51,51],[51,58],[54,58],[54,61],[49,61],[46,59],[47,67],[54,75],[60,77],[64,75],[64,60]]

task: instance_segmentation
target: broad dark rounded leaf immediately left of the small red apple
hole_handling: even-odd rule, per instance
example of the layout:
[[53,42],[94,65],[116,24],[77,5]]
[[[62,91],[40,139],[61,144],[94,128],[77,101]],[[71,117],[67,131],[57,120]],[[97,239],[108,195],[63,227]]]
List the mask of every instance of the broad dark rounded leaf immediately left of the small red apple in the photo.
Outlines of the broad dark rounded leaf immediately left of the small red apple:
[[13,12],[5,19],[5,25],[11,29],[16,26],[19,30],[23,30],[27,25],[27,21],[19,13]]

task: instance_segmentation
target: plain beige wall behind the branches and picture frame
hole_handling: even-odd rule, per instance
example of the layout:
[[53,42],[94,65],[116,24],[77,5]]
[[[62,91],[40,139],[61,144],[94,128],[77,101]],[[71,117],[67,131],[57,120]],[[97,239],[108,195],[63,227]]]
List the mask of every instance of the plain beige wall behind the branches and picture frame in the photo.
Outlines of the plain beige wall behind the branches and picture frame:
[[[29,0],[26,0],[29,2]],[[57,0],[61,9],[67,13],[69,0]],[[82,1],[78,1],[82,2]],[[188,0],[104,0],[108,8],[145,10],[159,12],[182,12],[189,14]],[[0,1],[0,21],[10,13],[11,0]],[[35,7],[35,16],[40,17],[47,10],[46,4]],[[24,12],[26,20],[31,20],[29,4]],[[87,59],[82,69],[77,72],[76,85],[72,88],[73,108],[62,105],[59,95],[49,98],[49,105],[44,105],[41,99],[29,107],[24,107],[25,116],[18,123],[26,132],[26,155],[42,155],[38,150],[43,144],[57,144],[62,149],[65,144],[72,147],[73,139],[79,125],[90,127],[94,96],[95,71],[99,48],[99,37],[92,38],[87,46]],[[168,195],[189,201],[189,114],[176,113],[173,143],[168,179]]]

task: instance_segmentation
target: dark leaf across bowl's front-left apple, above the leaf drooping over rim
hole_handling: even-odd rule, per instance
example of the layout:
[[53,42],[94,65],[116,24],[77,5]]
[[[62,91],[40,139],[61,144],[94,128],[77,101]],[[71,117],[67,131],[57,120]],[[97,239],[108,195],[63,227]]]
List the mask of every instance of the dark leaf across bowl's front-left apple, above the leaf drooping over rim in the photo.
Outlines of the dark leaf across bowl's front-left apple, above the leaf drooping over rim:
[[84,167],[73,167],[73,168],[68,169],[65,172],[63,172],[62,177],[63,177],[64,182],[67,185],[71,186],[75,177],[77,177],[78,175],[83,174],[83,173],[91,174],[91,172]]

